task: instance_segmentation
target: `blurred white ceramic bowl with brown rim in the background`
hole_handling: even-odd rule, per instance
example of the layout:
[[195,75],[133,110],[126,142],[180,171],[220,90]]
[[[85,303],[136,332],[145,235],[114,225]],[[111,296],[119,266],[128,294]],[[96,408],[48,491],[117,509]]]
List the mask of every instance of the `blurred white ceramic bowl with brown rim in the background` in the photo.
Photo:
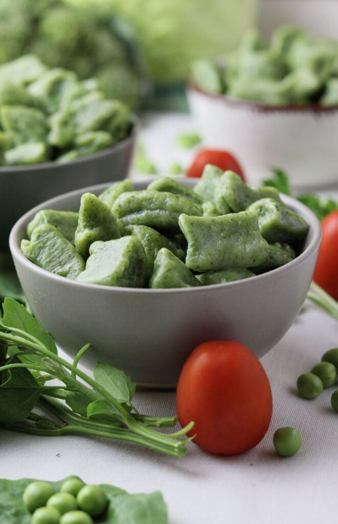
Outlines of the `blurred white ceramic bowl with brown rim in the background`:
[[188,101],[205,145],[231,151],[249,184],[261,185],[277,167],[294,189],[338,185],[338,105],[272,107],[194,85]]

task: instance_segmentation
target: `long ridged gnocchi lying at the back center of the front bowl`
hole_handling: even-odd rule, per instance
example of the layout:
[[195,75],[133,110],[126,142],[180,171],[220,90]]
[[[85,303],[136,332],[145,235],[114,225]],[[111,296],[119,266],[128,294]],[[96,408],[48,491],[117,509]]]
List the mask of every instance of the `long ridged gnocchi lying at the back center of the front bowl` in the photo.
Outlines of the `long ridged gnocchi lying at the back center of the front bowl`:
[[202,215],[201,206],[190,202],[183,196],[150,189],[120,194],[112,206],[112,211],[116,213],[124,226],[128,224],[145,225],[174,233],[181,233],[178,227],[178,217],[182,213]]

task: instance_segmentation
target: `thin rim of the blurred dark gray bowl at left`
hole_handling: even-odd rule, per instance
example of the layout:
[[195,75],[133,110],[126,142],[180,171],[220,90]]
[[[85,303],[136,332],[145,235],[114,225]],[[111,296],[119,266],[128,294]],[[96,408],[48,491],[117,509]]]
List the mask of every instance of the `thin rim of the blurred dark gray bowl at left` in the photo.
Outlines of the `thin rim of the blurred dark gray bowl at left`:
[[119,149],[122,149],[125,147],[126,144],[129,142],[134,141],[137,135],[137,130],[139,127],[139,119],[136,115],[132,115],[130,117],[130,123],[131,123],[131,129],[129,132],[129,135],[126,138],[123,138],[123,140],[120,140],[116,144],[113,144],[110,147],[106,147],[105,149],[102,149],[101,151],[97,151],[96,153],[92,155],[86,155],[80,158],[77,158],[76,160],[72,160],[71,162],[57,162],[55,160],[51,160],[49,162],[42,162],[42,163],[36,163],[36,164],[21,164],[21,165],[15,165],[15,166],[0,166],[0,175],[4,172],[16,172],[16,171],[37,171],[39,169],[61,169],[62,166],[69,166],[76,165],[77,163],[91,161],[96,158],[102,158],[106,155],[109,155],[112,150],[118,151]]

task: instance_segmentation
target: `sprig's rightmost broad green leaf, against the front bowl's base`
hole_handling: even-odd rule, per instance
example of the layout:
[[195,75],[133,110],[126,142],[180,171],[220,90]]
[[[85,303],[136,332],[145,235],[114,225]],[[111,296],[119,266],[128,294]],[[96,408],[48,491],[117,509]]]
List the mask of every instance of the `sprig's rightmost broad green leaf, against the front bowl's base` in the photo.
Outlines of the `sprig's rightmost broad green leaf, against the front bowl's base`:
[[94,378],[118,402],[130,403],[136,385],[121,369],[105,362],[97,362],[94,367]]

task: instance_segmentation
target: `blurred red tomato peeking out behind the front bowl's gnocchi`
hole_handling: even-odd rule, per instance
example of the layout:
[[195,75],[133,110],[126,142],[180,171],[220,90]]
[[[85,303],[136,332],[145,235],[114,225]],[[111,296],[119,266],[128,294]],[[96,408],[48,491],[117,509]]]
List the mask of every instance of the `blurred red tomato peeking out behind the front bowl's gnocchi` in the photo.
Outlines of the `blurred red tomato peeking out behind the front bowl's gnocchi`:
[[186,173],[187,177],[201,177],[204,167],[208,163],[223,169],[223,171],[234,171],[245,182],[244,173],[238,160],[229,151],[221,149],[200,149]]

